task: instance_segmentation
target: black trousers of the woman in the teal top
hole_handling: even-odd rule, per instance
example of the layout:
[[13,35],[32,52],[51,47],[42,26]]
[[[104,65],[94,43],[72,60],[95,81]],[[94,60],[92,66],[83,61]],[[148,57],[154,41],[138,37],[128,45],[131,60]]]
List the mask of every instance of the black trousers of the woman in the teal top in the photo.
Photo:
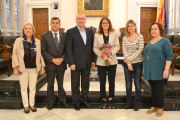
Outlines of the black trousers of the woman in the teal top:
[[163,108],[164,105],[164,90],[163,86],[167,79],[163,80],[148,80],[151,86],[152,107]]

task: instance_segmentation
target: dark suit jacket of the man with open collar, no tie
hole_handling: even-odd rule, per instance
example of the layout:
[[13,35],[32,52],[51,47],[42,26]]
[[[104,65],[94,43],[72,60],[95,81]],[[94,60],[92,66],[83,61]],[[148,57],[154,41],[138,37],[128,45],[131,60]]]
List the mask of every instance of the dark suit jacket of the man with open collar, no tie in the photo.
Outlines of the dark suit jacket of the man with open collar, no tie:
[[95,62],[93,52],[94,35],[93,31],[85,28],[87,41],[86,45],[81,34],[76,27],[67,30],[66,33],[66,53],[69,66],[75,64],[76,69],[84,69],[91,67],[91,62]]

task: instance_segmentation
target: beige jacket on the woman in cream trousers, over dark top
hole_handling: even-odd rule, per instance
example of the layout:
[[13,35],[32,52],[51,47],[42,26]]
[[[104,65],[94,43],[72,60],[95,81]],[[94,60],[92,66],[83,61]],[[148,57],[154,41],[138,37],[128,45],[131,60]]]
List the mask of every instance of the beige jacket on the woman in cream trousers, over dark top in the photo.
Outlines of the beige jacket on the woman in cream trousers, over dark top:
[[[17,67],[20,72],[25,71],[24,46],[22,42],[23,40],[24,38],[22,37],[16,39],[14,43],[13,55],[12,55],[12,68]],[[36,44],[36,68],[37,68],[37,72],[39,72],[42,67],[45,67],[45,63],[41,55],[40,40],[35,38],[35,44]]]

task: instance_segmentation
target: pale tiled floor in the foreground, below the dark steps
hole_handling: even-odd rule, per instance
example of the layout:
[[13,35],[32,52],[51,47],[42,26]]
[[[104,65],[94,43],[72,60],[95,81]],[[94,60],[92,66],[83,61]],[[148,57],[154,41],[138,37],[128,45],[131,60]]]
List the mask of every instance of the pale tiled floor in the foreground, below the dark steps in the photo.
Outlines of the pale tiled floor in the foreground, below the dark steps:
[[180,120],[180,111],[164,111],[163,116],[146,114],[147,109],[53,109],[38,108],[36,113],[23,110],[0,110],[0,120]]

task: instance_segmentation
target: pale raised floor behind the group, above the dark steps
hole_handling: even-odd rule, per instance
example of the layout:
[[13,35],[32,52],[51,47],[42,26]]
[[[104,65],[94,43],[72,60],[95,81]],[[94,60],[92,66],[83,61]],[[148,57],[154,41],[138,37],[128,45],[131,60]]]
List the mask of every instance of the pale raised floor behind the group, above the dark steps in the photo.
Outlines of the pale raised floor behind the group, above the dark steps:
[[[90,77],[95,77],[97,78],[97,74],[92,73]],[[0,80],[18,80],[18,77],[15,75],[11,75],[10,77],[7,77],[7,75],[0,76]],[[180,70],[175,69],[175,75],[172,76],[171,74],[169,75],[169,81],[180,81]],[[106,82],[106,90],[108,90],[109,85],[108,81]],[[71,91],[71,75],[70,75],[70,68],[68,68],[65,72],[64,76],[64,89],[65,91]],[[45,84],[40,91],[46,91],[47,90],[47,84]],[[55,80],[55,87],[54,90],[57,91],[57,82]],[[90,82],[90,91],[99,91],[100,90],[100,85],[99,82]],[[134,85],[132,90],[134,91]],[[117,65],[117,70],[116,70],[116,79],[115,79],[115,91],[126,91],[125,87],[125,77],[124,77],[124,70],[122,65],[118,64]]]

